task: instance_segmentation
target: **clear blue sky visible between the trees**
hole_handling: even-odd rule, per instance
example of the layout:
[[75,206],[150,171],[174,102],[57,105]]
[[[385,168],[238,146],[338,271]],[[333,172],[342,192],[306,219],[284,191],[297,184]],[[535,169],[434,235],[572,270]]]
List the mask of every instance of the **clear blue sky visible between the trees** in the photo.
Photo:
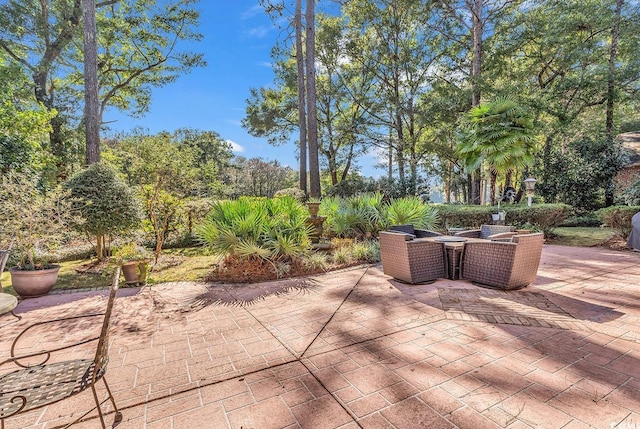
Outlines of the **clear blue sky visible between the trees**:
[[[143,127],[150,133],[195,128],[215,131],[232,142],[235,153],[247,158],[277,159],[298,169],[295,145],[269,145],[266,139],[250,136],[241,126],[249,89],[273,83],[270,51],[284,37],[258,0],[201,0],[200,32],[204,39],[188,47],[203,52],[207,67],[193,70],[176,82],[153,90],[151,110],[143,118],[130,118],[114,111],[105,121],[114,131]],[[371,160],[363,173],[379,175],[371,169]],[[364,162],[362,162],[364,161]]]

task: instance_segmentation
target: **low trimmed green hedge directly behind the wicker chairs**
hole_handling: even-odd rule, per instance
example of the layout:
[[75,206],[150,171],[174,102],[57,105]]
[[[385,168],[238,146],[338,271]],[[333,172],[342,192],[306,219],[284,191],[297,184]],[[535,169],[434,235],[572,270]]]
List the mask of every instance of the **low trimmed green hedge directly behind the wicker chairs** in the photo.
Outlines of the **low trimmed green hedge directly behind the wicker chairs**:
[[[492,213],[498,212],[497,206],[469,206],[469,205],[439,205],[439,227],[477,228],[482,224],[493,223]],[[533,204],[528,207],[523,204],[505,204],[500,210],[506,213],[506,224],[517,227],[535,227],[545,234],[560,225],[572,212],[567,204]]]

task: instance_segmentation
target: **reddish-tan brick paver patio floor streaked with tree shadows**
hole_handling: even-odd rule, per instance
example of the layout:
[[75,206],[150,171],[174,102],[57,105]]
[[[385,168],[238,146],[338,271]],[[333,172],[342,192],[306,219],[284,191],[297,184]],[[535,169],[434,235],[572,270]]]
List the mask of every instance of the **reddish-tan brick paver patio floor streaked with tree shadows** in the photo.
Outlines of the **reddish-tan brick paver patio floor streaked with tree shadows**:
[[[119,429],[640,428],[638,253],[545,246],[536,284],[513,292],[406,285],[374,266],[119,293],[107,373]],[[0,316],[0,360],[27,324],[105,301],[21,302],[21,321]],[[28,346],[73,328],[88,326]],[[92,403],[81,394],[7,429],[59,427]]]

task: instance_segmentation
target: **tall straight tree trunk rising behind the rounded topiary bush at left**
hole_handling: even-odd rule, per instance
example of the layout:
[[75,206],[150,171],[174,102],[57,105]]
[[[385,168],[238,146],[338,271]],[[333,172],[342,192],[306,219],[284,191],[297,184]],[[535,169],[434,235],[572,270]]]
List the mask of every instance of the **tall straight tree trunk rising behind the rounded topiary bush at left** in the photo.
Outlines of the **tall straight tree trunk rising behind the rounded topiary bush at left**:
[[86,164],[100,161],[100,113],[98,100],[98,42],[95,0],[82,0],[84,23],[84,125]]

